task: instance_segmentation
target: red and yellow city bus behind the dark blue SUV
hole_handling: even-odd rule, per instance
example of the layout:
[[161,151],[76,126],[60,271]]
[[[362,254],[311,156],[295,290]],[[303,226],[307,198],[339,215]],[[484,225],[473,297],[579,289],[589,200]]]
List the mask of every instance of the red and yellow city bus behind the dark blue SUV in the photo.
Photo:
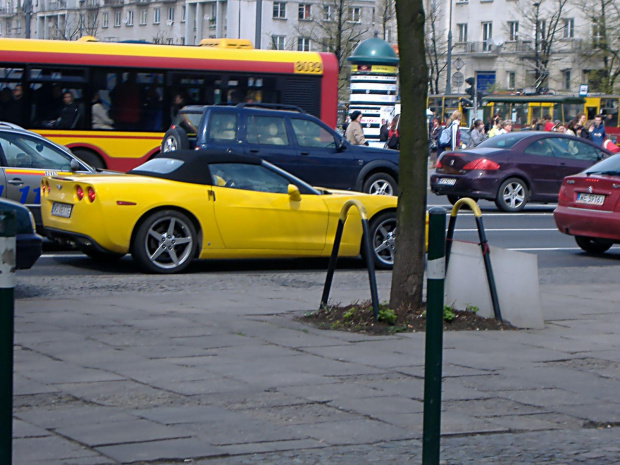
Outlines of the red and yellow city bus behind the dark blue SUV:
[[[159,152],[182,105],[296,105],[335,127],[337,85],[332,54],[254,50],[248,41],[181,47],[0,39],[0,120],[65,145],[95,167],[120,171]],[[71,120],[60,118],[67,92]],[[97,102],[95,113],[103,108],[110,124],[97,117],[93,124]]]

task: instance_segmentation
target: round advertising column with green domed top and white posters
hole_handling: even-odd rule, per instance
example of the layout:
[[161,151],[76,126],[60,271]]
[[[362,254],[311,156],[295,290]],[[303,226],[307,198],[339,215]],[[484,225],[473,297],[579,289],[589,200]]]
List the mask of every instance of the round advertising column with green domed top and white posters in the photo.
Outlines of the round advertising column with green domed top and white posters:
[[367,39],[347,58],[351,62],[349,114],[362,112],[362,129],[370,146],[383,147],[379,140],[382,120],[389,124],[396,115],[398,57],[386,41]]

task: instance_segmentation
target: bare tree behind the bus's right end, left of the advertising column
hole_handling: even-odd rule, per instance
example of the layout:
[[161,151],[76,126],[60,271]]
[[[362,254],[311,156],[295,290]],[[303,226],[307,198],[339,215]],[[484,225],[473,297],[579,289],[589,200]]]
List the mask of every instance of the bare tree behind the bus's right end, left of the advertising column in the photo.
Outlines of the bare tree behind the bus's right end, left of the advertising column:
[[312,4],[308,18],[299,21],[296,27],[300,37],[317,44],[321,51],[336,55],[338,95],[342,100],[348,100],[349,95],[350,66],[346,59],[367,37],[370,19],[361,16],[361,9],[351,0],[322,0]]

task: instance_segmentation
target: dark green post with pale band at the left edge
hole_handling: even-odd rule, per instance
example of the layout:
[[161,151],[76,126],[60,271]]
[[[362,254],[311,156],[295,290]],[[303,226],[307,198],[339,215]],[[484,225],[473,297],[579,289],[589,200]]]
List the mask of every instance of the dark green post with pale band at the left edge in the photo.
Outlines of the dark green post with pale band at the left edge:
[[13,328],[15,212],[0,212],[0,463],[10,465],[13,449]]

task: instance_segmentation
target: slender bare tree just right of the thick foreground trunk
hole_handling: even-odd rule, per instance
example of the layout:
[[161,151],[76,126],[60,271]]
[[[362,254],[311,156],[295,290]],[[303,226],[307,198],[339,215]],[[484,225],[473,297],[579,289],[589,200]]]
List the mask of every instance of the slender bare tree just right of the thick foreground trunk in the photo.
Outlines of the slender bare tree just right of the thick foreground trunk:
[[439,94],[439,81],[446,69],[448,45],[447,31],[441,26],[444,16],[441,5],[436,0],[428,2],[426,22],[424,24],[424,43],[426,47],[426,63],[429,70],[428,85],[431,94]]

